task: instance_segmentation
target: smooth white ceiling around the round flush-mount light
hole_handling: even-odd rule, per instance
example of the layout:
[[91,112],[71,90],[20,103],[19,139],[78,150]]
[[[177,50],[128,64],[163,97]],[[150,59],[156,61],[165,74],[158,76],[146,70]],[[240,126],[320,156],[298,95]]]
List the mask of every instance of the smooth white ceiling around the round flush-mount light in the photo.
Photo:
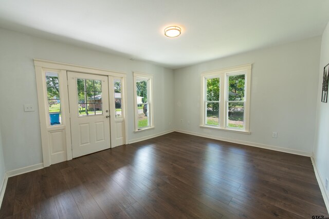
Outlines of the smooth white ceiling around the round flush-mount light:
[[[0,0],[0,27],[176,69],[321,35],[328,0]],[[179,25],[168,38],[163,29]]]

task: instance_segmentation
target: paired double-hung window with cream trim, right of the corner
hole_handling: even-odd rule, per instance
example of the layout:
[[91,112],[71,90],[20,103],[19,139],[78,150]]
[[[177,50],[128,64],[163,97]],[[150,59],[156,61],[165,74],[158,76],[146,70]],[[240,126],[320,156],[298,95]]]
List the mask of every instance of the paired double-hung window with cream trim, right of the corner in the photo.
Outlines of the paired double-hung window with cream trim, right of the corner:
[[249,133],[251,64],[201,75],[200,126]]

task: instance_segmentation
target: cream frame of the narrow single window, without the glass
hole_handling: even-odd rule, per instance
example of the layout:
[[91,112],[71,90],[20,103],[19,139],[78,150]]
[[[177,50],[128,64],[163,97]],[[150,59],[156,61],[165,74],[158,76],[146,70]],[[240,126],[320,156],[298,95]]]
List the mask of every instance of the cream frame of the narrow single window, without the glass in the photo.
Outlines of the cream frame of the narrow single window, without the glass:
[[[153,115],[153,75],[140,72],[133,72],[134,74],[134,109],[135,109],[135,132],[149,130],[154,128]],[[139,80],[148,81],[148,117],[150,125],[143,128],[138,128],[138,103],[137,103],[137,87],[136,83]]]

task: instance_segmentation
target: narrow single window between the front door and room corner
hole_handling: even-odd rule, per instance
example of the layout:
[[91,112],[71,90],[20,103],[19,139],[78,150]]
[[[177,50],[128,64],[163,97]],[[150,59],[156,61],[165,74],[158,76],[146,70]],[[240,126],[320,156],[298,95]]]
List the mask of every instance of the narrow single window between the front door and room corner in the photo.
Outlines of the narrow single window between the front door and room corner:
[[153,128],[151,74],[134,72],[135,131]]

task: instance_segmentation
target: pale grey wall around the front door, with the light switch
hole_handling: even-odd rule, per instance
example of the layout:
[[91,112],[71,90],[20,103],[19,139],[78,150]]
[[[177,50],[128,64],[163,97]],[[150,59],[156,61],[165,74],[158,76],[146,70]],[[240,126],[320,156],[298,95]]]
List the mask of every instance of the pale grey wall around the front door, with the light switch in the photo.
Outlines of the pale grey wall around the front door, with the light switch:
[[[173,129],[173,71],[153,64],[0,29],[0,128],[7,171],[42,163],[33,58],[127,74],[128,137],[134,140]],[[154,75],[155,129],[134,133],[133,71]],[[34,112],[24,112],[33,104]],[[4,107],[6,106],[6,107]]]

